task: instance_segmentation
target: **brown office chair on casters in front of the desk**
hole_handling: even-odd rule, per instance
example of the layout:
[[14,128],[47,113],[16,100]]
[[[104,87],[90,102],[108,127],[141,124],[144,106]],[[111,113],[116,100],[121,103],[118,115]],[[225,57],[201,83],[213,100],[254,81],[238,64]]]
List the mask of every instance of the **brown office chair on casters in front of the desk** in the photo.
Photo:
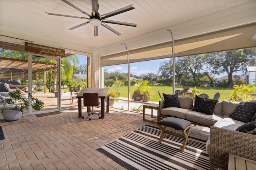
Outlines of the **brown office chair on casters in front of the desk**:
[[[84,106],[87,107],[92,107],[92,110],[90,113],[86,113],[84,115],[88,115],[89,116],[89,121],[91,120],[91,116],[92,115],[98,115],[99,119],[101,119],[101,115],[99,112],[94,112],[94,106],[98,106],[99,105],[99,96],[98,93],[84,93]],[[82,119],[84,119],[84,115],[82,116]]]

